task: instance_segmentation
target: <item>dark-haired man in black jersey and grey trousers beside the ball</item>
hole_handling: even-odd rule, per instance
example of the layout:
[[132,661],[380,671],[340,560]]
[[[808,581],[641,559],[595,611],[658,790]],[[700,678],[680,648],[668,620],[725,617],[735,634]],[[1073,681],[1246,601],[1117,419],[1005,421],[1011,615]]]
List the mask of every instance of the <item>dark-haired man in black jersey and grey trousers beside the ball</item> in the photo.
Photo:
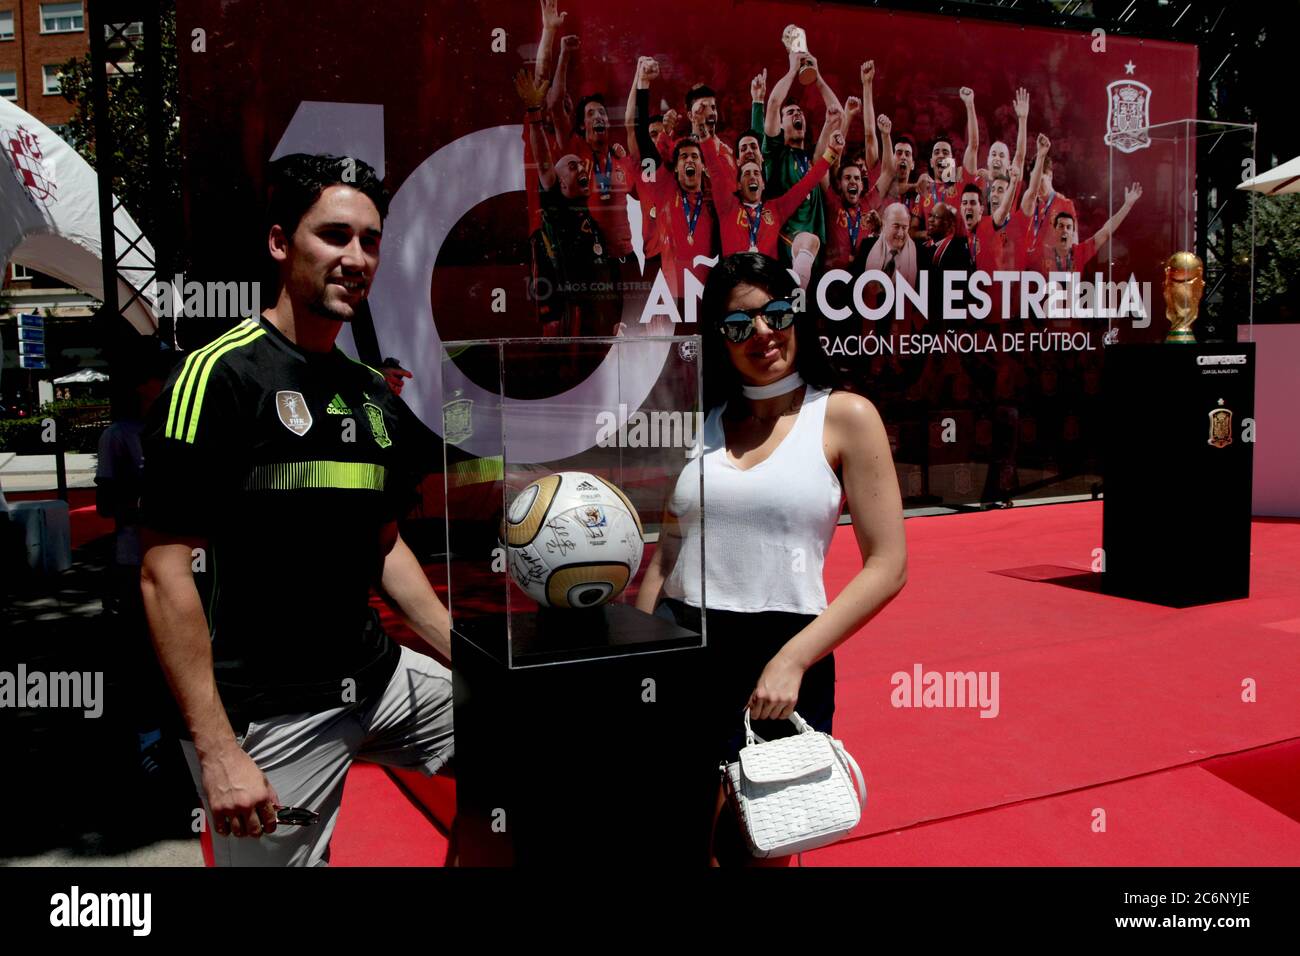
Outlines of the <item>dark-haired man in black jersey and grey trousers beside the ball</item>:
[[[447,610],[396,527],[438,440],[334,345],[386,211],[364,163],[273,164],[276,304],[191,352],[146,427],[144,604],[218,865],[324,865],[352,760],[433,774],[452,753],[450,671],[368,602],[380,585],[450,658]],[[291,826],[285,806],[318,819]]]

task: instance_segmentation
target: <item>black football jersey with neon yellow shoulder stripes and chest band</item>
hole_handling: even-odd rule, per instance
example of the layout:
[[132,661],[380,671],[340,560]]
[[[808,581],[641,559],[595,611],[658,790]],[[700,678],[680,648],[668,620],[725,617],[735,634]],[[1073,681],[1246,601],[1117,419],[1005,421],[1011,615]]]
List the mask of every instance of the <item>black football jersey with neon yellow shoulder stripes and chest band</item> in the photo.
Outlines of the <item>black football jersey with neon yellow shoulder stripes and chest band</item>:
[[398,648],[368,606],[380,531],[441,464],[377,371],[250,319],[187,356],[146,427],[144,523],[205,538],[217,687],[240,722],[384,689]]

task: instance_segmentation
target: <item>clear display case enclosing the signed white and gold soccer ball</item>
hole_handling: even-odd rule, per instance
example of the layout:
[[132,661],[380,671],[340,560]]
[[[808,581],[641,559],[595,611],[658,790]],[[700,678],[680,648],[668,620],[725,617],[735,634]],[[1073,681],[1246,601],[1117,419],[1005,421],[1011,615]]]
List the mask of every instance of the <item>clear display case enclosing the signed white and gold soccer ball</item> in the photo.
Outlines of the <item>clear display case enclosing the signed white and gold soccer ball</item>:
[[699,337],[445,342],[441,380],[452,630],[512,670],[703,646],[637,607],[703,580]]

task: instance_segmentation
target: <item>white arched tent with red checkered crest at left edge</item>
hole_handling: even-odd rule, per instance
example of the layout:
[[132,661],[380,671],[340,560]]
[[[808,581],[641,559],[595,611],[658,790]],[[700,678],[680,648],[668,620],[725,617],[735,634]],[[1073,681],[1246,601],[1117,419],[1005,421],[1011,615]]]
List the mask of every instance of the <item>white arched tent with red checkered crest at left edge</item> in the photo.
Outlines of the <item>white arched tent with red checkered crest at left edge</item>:
[[[12,260],[103,299],[95,170],[40,120],[3,99],[0,166],[0,268]],[[125,209],[113,213],[113,224],[121,256],[118,302],[135,294],[131,285],[146,290],[122,315],[142,334],[152,334],[153,247]]]

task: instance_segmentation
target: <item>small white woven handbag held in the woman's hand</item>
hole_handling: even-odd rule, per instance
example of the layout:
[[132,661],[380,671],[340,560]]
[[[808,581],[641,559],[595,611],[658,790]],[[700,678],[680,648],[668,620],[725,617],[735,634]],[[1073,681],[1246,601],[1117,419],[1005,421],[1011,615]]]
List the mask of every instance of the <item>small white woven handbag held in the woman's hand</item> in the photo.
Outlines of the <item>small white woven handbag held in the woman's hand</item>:
[[[790,715],[798,734],[764,741],[745,710],[745,747],[727,763],[727,793],[758,857],[826,847],[862,819],[867,784],[844,744]],[[852,774],[852,777],[850,777]]]

